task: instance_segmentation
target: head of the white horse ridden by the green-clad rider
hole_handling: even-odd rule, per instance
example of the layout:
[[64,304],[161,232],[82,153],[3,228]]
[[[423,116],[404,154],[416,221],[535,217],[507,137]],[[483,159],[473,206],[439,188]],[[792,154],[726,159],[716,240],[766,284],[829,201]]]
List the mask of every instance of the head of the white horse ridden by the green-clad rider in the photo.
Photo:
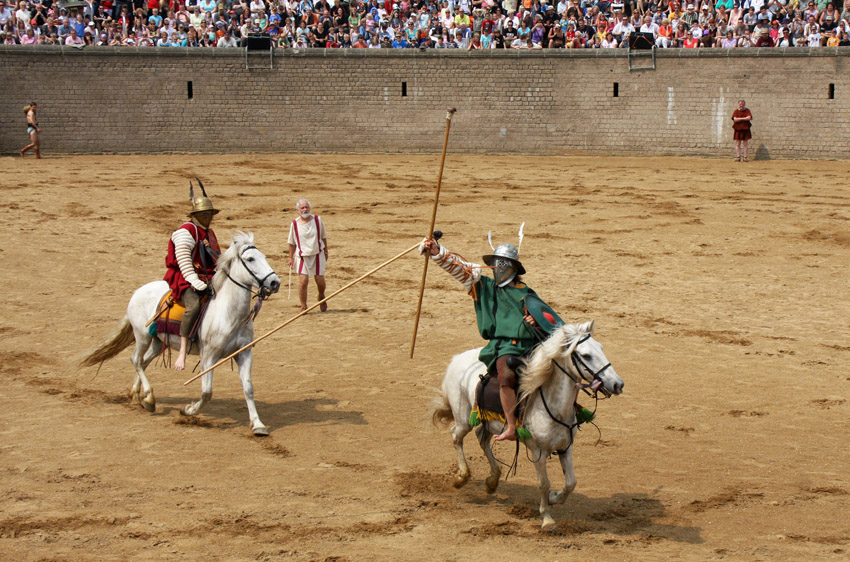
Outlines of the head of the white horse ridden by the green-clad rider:
[[564,363],[572,374],[583,379],[594,394],[622,394],[625,383],[602,353],[602,344],[593,339],[593,320],[561,326],[566,336]]

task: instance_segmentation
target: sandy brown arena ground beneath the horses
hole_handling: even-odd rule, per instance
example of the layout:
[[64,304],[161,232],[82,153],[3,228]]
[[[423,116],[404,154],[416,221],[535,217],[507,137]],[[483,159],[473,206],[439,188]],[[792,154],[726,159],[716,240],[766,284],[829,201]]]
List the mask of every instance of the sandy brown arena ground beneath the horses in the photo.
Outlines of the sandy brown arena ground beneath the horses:
[[[730,152],[731,154],[731,152]],[[410,254],[255,350],[271,436],[238,375],[212,403],[129,350],[73,365],[159,279],[188,178],[253,231],[284,282],[258,334],[297,313],[285,240],[298,196],[330,232],[329,292],[427,229],[439,155],[75,156],[0,160],[2,560],[846,560],[850,553],[850,188],[845,162],[449,154],[438,227],[472,259],[526,221],[528,283],[626,381],[575,445],[578,486],[540,529],[537,482],[450,485],[428,419],[451,356],[481,344],[470,299]],[[315,302],[311,287],[310,302]],[[194,361],[191,362],[194,365]],[[497,445],[508,461],[512,447]],[[553,486],[563,483],[550,460]]]

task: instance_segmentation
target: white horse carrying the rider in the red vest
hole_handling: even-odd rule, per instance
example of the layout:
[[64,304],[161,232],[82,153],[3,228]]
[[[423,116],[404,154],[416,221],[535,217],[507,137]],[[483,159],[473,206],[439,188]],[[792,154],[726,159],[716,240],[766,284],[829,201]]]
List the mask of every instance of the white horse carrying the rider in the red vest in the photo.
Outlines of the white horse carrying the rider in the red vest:
[[[280,279],[269,266],[266,256],[254,246],[254,235],[237,231],[233,235],[230,248],[221,255],[216,264],[212,286],[215,296],[210,299],[201,323],[197,345],[192,346],[192,354],[201,356],[201,369],[214,365],[222,357],[253,341],[252,288],[257,288],[260,298],[265,298],[280,289]],[[131,393],[136,400],[140,399],[141,393],[141,405],[149,412],[156,409],[156,399],[145,369],[162,350],[161,338],[167,339],[172,349],[180,349],[180,336],[158,334],[157,337],[152,337],[145,325],[156,313],[159,302],[167,291],[168,284],[165,281],[154,281],[137,289],[112,338],[80,363],[81,367],[100,364],[135,342],[136,349],[131,360],[136,368],[136,378]],[[239,378],[242,379],[242,391],[248,402],[251,429],[254,435],[268,435],[268,429],[260,421],[254,405],[251,348],[237,355],[235,359],[239,366]],[[212,376],[213,371],[210,371],[201,378],[201,399],[187,404],[180,413],[195,415],[209,402],[212,398]]]

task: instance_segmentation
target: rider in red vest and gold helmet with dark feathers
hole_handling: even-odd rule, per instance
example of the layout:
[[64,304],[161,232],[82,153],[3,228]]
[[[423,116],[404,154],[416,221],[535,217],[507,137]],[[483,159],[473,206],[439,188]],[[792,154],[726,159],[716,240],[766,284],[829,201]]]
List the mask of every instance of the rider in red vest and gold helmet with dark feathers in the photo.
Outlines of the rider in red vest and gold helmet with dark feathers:
[[[197,178],[196,178],[197,179]],[[201,298],[212,291],[212,277],[221,249],[215,233],[210,228],[212,218],[218,214],[212,201],[207,197],[204,184],[198,180],[203,196],[195,199],[194,188],[189,182],[189,199],[192,201],[191,220],[174,231],[168,242],[168,256],[165,258],[165,281],[171,288],[171,296],[186,307],[180,322],[180,352],[174,362],[174,368],[182,371],[186,368],[186,355],[189,352],[189,336],[201,312]]]

